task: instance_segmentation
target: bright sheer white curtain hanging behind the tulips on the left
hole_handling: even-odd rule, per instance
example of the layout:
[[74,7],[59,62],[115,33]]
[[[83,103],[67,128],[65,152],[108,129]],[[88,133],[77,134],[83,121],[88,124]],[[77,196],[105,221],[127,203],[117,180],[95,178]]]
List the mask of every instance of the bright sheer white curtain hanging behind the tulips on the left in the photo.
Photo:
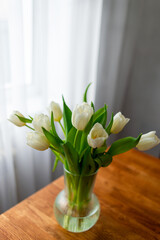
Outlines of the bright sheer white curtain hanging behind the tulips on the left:
[[96,80],[101,11],[101,0],[0,0],[0,212],[62,172],[52,174],[49,150],[27,146],[28,130],[7,117],[47,113],[62,94],[71,108],[81,102]]

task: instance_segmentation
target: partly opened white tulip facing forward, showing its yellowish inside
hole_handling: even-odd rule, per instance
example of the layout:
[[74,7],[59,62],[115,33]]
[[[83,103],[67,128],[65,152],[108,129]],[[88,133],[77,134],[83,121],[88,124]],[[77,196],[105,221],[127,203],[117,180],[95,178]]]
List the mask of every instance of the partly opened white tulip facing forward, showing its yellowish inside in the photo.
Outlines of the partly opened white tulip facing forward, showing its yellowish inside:
[[87,136],[89,146],[92,148],[99,148],[104,144],[108,138],[108,134],[100,123],[96,123]]

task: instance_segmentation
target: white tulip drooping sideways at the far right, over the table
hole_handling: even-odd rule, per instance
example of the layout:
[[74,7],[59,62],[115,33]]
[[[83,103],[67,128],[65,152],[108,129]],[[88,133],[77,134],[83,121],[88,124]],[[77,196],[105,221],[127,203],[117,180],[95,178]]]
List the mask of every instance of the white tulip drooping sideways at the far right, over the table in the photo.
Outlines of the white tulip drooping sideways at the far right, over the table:
[[160,139],[156,136],[156,131],[143,134],[140,138],[137,148],[141,151],[149,150],[160,143]]

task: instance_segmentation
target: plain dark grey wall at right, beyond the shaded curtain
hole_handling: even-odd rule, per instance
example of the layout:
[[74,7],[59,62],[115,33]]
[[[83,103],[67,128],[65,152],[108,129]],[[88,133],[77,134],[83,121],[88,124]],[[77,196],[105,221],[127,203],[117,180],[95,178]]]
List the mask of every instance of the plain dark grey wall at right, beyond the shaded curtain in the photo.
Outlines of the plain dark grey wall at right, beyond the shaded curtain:
[[[123,100],[127,132],[156,130],[160,137],[160,1],[143,1],[134,56]],[[159,156],[160,147],[147,151]]]

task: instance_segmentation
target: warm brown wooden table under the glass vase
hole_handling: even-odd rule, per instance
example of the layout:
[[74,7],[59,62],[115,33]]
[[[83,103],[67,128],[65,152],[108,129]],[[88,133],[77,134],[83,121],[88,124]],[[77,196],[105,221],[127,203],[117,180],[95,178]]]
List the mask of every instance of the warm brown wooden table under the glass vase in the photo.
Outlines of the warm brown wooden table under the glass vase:
[[0,216],[0,240],[160,239],[160,159],[131,150],[99,170],[95,193],[101,204],[96,225],[84,233],[62,229],[53,202],[63,177]]

